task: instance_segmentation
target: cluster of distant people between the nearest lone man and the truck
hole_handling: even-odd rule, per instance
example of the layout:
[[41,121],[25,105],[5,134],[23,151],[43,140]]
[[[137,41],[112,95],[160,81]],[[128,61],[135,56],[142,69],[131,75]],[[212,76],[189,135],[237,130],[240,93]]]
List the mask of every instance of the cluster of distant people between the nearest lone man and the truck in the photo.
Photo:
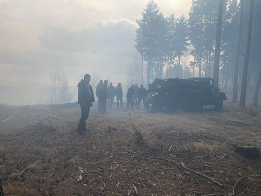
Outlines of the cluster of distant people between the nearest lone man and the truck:
[[[129,109],[129,105],[131,105],[131,109],[134,109],[134,106],[136,106],[137,109],[140,109],[141,101],[143,101],[145,106],[146,93],[147,90],[143,87],[143,85],[141,85],[141,88],[139,88],[137,84],[131,85],[126,95],[127,109]],[[120,82],[117,87],[114,87],[112,82],[108,86],[108,80],[100,80],[96,86],[96,96],[98,98],[97,107],[100,112],[106,112],[107,107],[112,108],[115,97],[117,99],[118,109],[123,109],[123,92]]]

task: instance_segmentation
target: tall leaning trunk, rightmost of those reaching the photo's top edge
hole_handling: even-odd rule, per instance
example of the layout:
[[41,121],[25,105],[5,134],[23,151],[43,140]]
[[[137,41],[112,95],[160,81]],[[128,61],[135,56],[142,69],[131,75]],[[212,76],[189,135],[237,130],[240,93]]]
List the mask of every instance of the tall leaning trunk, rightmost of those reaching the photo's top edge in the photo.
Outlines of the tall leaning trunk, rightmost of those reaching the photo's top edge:
[[254,9],[254,0],[250,0],[250,10],[249,10],[248,29],[247,29],[247,43],[246,43],[246,52],[245,52],[245,59],[244,59],[244,66],[243,66],[243,73],[242,73],[242,84],[241,84],[239,107],[245,107],[246,104],[247,73],[248,73],[248,62],[249,62],[250,46],[251,46],[253,9]]

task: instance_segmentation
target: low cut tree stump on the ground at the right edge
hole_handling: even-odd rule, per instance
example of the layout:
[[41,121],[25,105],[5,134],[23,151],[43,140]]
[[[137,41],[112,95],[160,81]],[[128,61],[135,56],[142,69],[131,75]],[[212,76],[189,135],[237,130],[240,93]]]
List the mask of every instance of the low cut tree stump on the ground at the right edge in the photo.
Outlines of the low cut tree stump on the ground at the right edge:
[[250,159],[257,159],[257,158],[260,157],[259,148],[255,147],[253,145],[248,145],[248,144],[240,145],[240,144],[238,144],[236,146],[235,151],[244,155],[247,158],[250,158]]

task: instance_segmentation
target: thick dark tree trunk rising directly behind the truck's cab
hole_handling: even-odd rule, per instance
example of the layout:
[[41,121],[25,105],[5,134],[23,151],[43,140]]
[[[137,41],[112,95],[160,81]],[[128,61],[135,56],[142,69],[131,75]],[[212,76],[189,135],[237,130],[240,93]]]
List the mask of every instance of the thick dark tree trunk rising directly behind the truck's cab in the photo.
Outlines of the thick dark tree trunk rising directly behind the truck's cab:
[[216,38],[215,38],[214,84],[217,85],[217,86],[218,86],[218,74],[219,74],[219,59],[220,59],[220,43],[221,43],[223,1],[224,0],[219,0],[219,3],[218,3]]

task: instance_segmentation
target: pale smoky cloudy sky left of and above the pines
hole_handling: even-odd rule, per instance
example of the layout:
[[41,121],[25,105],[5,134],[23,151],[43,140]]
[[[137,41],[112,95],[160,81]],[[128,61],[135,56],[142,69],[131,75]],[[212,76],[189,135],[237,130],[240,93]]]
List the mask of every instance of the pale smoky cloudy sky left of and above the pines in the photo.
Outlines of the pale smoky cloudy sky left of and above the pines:
[[[191,1],[155,0],[166,16],[187,16]],[[0,0],[0,85],[45,87],[57,67],[71,86],[84,73],[124,82],[147,2]]]

